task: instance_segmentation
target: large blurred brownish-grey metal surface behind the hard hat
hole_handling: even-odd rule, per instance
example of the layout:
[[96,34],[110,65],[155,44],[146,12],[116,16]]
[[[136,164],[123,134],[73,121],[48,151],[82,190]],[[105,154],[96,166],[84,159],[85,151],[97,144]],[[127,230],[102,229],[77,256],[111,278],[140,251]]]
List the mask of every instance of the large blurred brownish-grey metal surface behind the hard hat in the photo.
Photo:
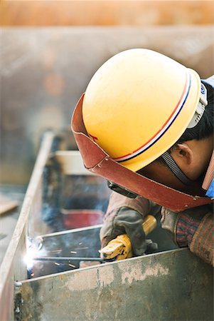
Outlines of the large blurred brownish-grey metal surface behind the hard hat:
[[92,74],[119,51],[153,49],[203,78],[214,73],[213,26],[20,27],[0,36],[3,183],[28,182],[41,133],[70,128]]

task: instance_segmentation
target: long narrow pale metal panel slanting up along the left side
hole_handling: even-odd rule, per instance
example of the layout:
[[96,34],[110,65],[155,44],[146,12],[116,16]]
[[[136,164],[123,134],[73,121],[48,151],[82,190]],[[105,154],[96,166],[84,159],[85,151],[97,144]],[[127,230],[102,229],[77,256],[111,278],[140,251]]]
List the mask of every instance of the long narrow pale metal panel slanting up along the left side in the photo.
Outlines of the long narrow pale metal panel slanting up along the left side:
[[38,206],[35,196],[37,195],[37,200],[39,200],[37,192],[41,185],[43,167],[50,153],[52,141],[53,133],[46,133],[41,144],[31,181],[28,185],[14,235],[11,238],[4,260],[1,263],[0,320],[2,321],[14,320],[14,280],[23,280],[27,277],[26,263],[23,258],[26,253],[28,218],[35,206]]

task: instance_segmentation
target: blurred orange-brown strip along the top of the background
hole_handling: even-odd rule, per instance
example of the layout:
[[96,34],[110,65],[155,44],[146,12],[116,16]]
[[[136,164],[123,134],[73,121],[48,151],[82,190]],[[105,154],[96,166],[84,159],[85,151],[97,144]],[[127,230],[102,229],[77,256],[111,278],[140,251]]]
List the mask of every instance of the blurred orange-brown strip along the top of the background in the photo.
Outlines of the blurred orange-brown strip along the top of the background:
[[[213,1],[2,1],[4,26],[212,24]],[[132,12],[132,14],[130,14]]]

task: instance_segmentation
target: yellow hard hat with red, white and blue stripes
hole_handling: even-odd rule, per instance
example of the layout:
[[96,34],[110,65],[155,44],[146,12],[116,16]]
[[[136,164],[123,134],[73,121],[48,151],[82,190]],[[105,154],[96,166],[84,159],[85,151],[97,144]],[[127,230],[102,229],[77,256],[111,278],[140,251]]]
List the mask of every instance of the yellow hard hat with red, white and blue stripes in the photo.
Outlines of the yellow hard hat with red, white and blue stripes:
[[173,146],[200,98],[200,77],[163,54],[129,49],[109,58],[85,91],[88,135],[114,161],[137,171]]

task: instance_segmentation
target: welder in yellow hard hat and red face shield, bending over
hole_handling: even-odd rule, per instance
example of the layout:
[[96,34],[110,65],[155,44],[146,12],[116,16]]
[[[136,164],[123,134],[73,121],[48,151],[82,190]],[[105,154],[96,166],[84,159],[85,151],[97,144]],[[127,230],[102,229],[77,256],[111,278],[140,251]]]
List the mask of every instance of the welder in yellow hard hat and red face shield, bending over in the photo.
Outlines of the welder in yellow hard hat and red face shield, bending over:
[[142,223],[161,210],[176,245],[213,264],[213,88],[149,49],[122,51],[92,77],[72,128],[85,167],[115,190],[102,247],[126,233],[143,255]]

